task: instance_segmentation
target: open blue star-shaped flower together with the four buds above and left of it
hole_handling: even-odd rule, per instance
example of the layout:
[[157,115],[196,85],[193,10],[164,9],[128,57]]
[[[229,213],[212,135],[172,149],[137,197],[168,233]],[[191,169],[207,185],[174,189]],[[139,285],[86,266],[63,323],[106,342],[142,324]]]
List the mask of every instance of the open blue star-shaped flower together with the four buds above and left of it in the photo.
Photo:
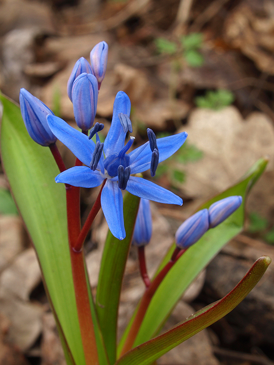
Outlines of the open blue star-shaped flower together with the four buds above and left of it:
[[[102,210],[111,232],[122,240],[125,238],[125,229],[121,190],[160,203],[183,204],[179,196],[135,175],[150,169],[154,176],[158,163],[183,145],[187,133],[156,139],[154,132],[148,129],[149,141],[128,152],[134,142],[134,137],[130,137],[125,143],[127,133],[132,133],[130,100],[123,91],[119,91],[114,102],[109,133],[105,142],[101,143],[98,132],[104,125],[92,125],[99,85],[106,71],[107,51],[105,42],[96,45],[90,54],[91,65],[80,58],[68,82],[68,95],[73,102],[76,122],[84,133],[53,115],[39,99],[24,89],[20,92],[20,105],[29,134],[37,143],[50,146],[57,138],[85,165],[60,173],[55,179],[56,183],[81,187],[95,187],[104,183],[101,193]],[[87,131],[90,128],[88,137]],[[96,136],[96,143],[91,140],[93,136]]]

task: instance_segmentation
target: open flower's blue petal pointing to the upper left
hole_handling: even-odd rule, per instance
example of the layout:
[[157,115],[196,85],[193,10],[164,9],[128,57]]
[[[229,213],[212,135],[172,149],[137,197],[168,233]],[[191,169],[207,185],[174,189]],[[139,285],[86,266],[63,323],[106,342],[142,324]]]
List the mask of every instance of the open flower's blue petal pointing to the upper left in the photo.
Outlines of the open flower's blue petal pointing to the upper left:
[[63,142],[82,163],[89,166],[95,143],[58,116],[48,115],[47,123],[58,140]]

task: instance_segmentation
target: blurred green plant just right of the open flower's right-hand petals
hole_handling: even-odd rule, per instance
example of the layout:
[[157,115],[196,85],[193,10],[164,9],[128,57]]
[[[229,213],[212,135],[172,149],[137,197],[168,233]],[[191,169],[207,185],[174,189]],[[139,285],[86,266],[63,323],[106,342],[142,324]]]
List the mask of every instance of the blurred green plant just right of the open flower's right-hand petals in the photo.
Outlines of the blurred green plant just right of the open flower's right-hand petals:
[[[166,135],[167,134],[162,133],[161,137]],[[186,181],[186,173],[183,168],[178,168],[178,166],[181,167],[181,165],[198,161],[202,157],[202,151],[186,141],[183,148],[177,151],[172,158],[169,159],[169,163],[162,163],[158,166],[156,178],[159,179],[162,176],[165,176],[171,185],[184,183]]]

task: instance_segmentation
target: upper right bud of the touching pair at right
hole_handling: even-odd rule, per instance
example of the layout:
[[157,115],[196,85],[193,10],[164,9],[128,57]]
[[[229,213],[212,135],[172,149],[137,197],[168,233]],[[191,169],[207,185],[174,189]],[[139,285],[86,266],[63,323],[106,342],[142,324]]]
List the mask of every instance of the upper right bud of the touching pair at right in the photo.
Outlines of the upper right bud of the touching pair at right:
[[241,203],[242,197],[237,195],[229,196],[228,198],[213,203],[208,209],[209,227],[214,228],[216,225],[222,223],[222,221],[227,219],[239,208]]

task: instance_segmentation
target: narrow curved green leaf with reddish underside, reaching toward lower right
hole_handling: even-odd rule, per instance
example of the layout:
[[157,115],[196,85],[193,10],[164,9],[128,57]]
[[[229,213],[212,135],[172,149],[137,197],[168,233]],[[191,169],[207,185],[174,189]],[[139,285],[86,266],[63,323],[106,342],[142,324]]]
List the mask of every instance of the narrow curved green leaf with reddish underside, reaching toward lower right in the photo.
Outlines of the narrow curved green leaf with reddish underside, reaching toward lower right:
[[202,308],[186,321],[158,337],[129,351],[117,361],[116,365],[149,365],[197,332],[223,318],[255,287],[270,263],[270,257],[260,257],[244,278],[225,297]]

